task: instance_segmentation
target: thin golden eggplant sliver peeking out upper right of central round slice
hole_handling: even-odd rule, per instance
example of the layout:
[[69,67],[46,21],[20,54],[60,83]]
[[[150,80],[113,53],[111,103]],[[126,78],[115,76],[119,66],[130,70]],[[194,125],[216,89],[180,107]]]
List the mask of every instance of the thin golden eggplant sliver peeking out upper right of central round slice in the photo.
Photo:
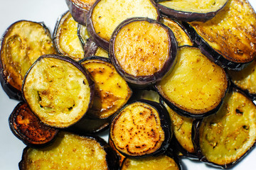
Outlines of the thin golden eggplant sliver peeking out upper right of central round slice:
[[161,18],[161,23],[164,23],[164,25],[168,26],[174,32],[175,38],[178,42],[178,47],[184,45],[193,46],[193,41],[186,32],[186,29],[183,28],[183,26],[178,23],[178,21],[163,16]]

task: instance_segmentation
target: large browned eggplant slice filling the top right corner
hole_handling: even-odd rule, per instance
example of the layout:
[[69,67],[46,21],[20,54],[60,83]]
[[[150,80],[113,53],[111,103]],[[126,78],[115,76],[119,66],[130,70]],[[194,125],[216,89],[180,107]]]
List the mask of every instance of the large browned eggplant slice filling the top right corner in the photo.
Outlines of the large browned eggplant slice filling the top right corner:
[[211,20],[186,27],[201,52],[221,67],[240,71],[255,58],[256,15],[247,0],[230,0]]

